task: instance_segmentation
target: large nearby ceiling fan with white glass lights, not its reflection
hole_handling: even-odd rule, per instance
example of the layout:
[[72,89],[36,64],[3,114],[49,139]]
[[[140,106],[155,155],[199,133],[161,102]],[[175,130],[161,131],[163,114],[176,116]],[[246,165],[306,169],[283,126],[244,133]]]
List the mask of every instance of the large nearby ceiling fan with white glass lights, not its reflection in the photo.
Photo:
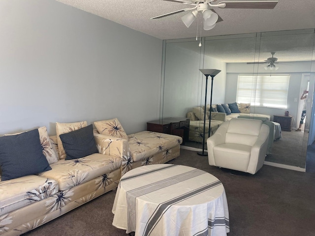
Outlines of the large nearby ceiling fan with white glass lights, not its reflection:
[[164,0],[182,3],[192,6],[178,11],[173,11],[160,16],[152,17],[151,19],[158,19],[165,16],[174,15],[184,11],[190,11],[182,17],[182,21],[187,28],[196,19],[197,14],[200,12],[204,19],[203,29],[209,30],[215,27],[217,22],[223,21],[222,18],[216,13],[214,8],[247,8],[247,9],[273,9],[278,1],[221,1],[216,4],[216,0]]

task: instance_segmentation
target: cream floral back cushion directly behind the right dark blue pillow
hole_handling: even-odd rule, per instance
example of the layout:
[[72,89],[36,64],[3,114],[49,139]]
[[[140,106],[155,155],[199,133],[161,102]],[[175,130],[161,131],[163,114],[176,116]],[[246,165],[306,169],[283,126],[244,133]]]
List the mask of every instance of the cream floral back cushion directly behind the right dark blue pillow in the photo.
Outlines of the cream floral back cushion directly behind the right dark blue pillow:
[[63,149],[63,142],[61,141],[59,135],[69,133],[71,131],[81,129],[88,125],[87,121],[74,122],[74,123],[59,123],[56,122],[56,132],[57,132],[57,144],[59,150],[60,159],[64,159],[66,154]]

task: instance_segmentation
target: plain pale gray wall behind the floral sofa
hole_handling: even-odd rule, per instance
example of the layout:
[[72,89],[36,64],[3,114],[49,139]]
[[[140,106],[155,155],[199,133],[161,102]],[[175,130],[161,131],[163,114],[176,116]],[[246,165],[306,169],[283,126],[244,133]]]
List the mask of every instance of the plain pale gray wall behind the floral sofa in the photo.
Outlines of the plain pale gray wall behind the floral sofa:
[[162,40],[55,0],[0,1],[0,135],[159,117]]

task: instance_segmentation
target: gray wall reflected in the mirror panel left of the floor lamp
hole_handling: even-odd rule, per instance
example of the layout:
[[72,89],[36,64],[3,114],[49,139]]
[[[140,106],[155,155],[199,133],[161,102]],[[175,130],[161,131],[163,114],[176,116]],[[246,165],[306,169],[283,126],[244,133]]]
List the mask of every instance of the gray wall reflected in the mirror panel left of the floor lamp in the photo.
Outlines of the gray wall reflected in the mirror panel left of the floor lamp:
[[187,43],[166,44],[163,118],[186,117],[192,107],[200,105],[200,53],[178,44]]

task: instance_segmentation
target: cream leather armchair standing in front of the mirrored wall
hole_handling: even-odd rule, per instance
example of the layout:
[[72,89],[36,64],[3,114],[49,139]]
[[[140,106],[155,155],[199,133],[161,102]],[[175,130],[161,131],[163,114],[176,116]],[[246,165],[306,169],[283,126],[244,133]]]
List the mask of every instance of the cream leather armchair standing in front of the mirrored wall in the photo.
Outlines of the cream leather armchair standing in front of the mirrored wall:
[[255,174],[264,164],[268,135],[261,120],[225,121],[207,139],[209,165]]

